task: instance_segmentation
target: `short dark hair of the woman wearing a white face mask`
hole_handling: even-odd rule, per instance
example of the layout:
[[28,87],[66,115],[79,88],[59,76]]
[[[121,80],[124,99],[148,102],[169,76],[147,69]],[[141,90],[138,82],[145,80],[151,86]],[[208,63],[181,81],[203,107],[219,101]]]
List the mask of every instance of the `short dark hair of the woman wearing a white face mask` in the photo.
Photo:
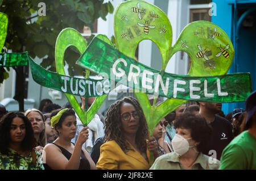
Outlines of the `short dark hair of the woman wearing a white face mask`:
[[212,128],[200,115],[193,115],[191,113],[182,113],[176,117],[174,127],[191,130],[191,137],[196,142],[199,142],[197,150],[206,153],[209,147],[210,137],[212,135]]

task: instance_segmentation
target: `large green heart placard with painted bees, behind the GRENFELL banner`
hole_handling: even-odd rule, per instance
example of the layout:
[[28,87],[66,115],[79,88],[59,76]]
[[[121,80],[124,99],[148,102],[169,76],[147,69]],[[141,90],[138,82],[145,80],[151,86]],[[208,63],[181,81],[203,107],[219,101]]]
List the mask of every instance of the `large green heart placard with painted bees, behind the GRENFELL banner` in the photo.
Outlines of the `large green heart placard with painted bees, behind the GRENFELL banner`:
[[[188,75],[226,74],[233,61],[234,50],[229,37],[221,28],[210,22],[199,21],[188,24],[174,47],[171,47],[172,27],[168,17],[158,7],[144,1],[125,1],[117,7],[114,15],[114,33],[117,49],[133,58],[140,41],[144,39],[153,41],[162,56],[161,71],[166,69],[171,56],[179,50],[184,50],[191,57],[192,64]],[[227,45],[229,49],[224,50]],[[225,54],[224,57],[224,51],[228,52],[229,56]],[[135,95],[146,116],[150,135],[159,120],[187,102],[167,99],[155,106],[156,100],[154,100],[151,106],[145,93],[140,92]]]

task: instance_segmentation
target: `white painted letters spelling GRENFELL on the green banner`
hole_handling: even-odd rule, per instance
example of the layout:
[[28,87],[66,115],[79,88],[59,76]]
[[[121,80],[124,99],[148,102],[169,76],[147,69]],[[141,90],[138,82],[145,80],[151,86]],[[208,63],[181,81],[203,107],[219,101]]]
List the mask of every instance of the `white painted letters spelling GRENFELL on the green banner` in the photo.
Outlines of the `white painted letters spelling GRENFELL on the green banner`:
[[[159,91],[162,91],[165,96],[168,95],[168,97],[172,98],[177,98],[177,94],[182,95],[182,92],[189,92],[189,98],[191,99],[200,99],[201,96],[204,96],[205,98],[214,97],[214,93],[208,92],[207,79],[199,78],[189,80],[166,77],[163,80],[162,75],[160,75],[159,73],[154,73],[146,69],[141,72],[139,66],[134,64],[130,65],[129,73],[128,75],[126,75],[125,70],[120,67],[117,68],[118,64],[123,64],[123,66],[127,66],[127,62],[124,59],[119,58],[118,60],[116,60],[112,67],[112,73],[115,75],[115,77],[117,77],[117,79],[122,78],[122,81],[120,82],[122,82],[123,84],[127,82],[125,86],[134,84],[137,88],[141,87],[140,90],[142,92],[154,92],[154,94],[159,94]],[[127,81],[123,79],[126,79]],[[139,81],[140,79],[141,81]],[[212,83],[217,89],[217,95],[228,96],[228,92],[221,92],[220,78],[215,79],[216,81],[212,81]],[[197,91],[201,91],[201,87],[203,87],[203,94],[196,95]]]

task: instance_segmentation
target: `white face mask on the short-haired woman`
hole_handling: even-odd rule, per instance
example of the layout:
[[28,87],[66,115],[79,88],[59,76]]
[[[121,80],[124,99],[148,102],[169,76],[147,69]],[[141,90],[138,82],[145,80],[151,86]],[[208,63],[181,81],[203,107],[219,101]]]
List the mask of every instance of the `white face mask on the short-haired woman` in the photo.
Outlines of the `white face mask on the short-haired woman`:
[[189,148],[193,148],[194,146],[189,146],[188,140],[192,138],[185,139],[180,134],[175,134],[174,138],[172,139],[172,148],[174,148],[174,152],[178,155],[183,155],[188,152]]

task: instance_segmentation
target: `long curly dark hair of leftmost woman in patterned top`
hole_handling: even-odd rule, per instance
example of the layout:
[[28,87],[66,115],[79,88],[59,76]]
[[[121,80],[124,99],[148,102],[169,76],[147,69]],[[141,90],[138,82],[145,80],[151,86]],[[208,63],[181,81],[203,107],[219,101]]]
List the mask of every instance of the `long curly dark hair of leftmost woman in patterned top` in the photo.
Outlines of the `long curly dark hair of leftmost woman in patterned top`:
[[0,152],[5,155],[9,153],[11,123],[15,117],[22,119],[26,127],[26,135],[21,144],[22,150],[32,151],[36,146],[33,129],[28,118],[21,112],[9,112],[0,121]]

